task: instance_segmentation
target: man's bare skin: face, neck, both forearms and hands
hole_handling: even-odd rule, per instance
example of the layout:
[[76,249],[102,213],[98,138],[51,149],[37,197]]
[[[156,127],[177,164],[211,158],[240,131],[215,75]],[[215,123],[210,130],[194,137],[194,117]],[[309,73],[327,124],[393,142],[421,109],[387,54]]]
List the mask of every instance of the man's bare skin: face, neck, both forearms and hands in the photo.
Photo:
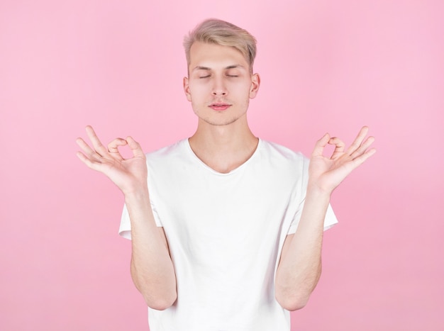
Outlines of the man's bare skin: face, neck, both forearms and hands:
[[[194,43],[190,56],[184,93],[198,124],[189,143],[202,162],[227,173],[249,159],[257,147],[246,113],[259,90],[260,76],[250,73],[247,60],[233,47]],[[287,235],[275,280],[276,299],[287,310],[304,307],[318,282],[323,220],[331,193],[374,154],[370,148],[374,138],[366,138],[367,132],[363,127],[348,148],[328,134],[316,142],[299,227],[294,235]],[[108,176],[125,196],[131,218],[134,284],[148,306],[168,308],[177,298],[176,278],[165,232],[157,228],[152,216],[143,150],[131,137],[116,138],[105,147],[90,126],[87,135],[91,146],[77,138],[82,150],[77,156],[87,167]],[[326,145],[335,146],[331,157],[323,156]],[[123,159],[119,147],[129,147],[133,157]]]

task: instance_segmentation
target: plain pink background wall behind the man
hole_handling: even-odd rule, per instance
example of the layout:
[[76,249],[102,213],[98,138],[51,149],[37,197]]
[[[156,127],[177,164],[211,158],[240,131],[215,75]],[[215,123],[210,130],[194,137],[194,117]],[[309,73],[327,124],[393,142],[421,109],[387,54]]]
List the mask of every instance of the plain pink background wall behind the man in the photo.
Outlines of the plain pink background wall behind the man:
[[147,152],[191,135],[182,37],[218,17],[259,40],[256,135],[306,154],[327,130],[377,138],[335,191],[292,330],[444,330],[443,4],[2,0],[0,329],[148,330],[123,196],[74,140],[87,124]]

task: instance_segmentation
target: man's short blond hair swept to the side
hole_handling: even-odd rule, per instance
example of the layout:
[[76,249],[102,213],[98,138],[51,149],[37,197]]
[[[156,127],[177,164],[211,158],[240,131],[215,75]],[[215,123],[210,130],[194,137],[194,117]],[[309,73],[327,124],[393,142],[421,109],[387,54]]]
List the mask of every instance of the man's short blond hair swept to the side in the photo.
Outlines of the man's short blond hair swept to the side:
[[188,65],[190,63],[189,50],[196,41],[234,47],[245,57],[245,60],[250,64],[250,71],[252,72],[252,64],[255,62],[256,57],[256,39],[247,30],[216,18],[209,18],[203,21],[184,38]]

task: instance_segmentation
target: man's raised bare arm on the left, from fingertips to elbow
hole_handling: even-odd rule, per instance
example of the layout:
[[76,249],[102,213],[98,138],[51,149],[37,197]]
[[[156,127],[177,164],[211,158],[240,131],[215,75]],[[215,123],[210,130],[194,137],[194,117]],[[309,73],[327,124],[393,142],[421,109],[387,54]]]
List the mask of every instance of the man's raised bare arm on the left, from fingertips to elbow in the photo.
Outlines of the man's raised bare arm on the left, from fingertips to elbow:
[[[133,138],[116,138],[105,147],[91,126],[87,126],[90,147],[82,138],[77,144],[79,159],[91,169],[106,174],[125,195],[131,219],[131,277],[147,305],[156,310],[169,308],[177,299],[176,275],[165,231],[157,227],[148,194],[146,157]],[[124,159],[118,147],[130,147],[133,157]]]

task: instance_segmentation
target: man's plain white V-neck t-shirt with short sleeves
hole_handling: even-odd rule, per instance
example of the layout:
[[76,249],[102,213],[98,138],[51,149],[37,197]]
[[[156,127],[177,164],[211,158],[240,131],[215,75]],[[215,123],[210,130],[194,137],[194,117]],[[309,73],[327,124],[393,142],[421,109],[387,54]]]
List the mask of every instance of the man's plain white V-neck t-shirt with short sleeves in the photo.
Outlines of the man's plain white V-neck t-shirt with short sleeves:
[[[309,159],[259,140],[228,174],[206,166],[187,139],[147,155],[148,188],[177,278],[177,301],[148,309],[151,331],[287,331],[274,298],[285,237],[296,231]],[[324,230],[337,223],[328,208]],[[123,209],[119,233],[131,239]]]

